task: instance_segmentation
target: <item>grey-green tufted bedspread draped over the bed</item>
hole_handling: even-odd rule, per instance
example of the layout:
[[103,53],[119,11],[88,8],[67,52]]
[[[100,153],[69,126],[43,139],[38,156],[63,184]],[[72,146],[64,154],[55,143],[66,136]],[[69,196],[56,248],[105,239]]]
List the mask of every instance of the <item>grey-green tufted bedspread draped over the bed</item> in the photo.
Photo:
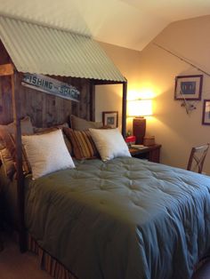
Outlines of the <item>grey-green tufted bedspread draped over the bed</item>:
[[188,279],[210,248],[210,178],[136,158],[30,181],[28,231],[79,279]]

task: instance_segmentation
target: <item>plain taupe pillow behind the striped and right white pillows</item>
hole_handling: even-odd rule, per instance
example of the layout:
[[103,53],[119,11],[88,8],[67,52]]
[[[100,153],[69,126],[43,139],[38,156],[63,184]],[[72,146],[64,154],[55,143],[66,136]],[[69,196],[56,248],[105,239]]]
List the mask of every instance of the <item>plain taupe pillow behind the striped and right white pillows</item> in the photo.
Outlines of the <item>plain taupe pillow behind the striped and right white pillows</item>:
[[73,130],[85,131],[89,128],[99,129],[103,126],[101,122],[87,121],[77,116],[70,116],[70,124]]

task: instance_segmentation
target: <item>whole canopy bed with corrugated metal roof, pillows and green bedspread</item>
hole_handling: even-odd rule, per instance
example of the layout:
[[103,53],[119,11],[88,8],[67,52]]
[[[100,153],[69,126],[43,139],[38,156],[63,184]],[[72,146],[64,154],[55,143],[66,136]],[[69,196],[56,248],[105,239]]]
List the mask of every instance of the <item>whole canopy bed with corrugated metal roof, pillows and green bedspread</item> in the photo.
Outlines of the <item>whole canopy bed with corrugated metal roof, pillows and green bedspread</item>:
[[[23,34],[24,28],[28,31],[37,29],[33,24],[22,24],[20,21],[15,26],[21,27]],[[80,89],[79,103],[60,100],[60,97],[55,96],[46,97],[43,92],[25,88],[20,84],[23,74],[11,63],[13,55],[12,62],[16,68],[20,68],[20,72],[24,72],[23,64],[16,60],[17,53],[11,47],[12,39],[16,43],[19,39],[17,36],[11,38],[5,32],[10,31],[11,27],[14,28],[13,20],[0,18],[0,36],[4,43],[1,46],[4,55],[0,61],[4,64],[0,67],[0,75],[3,76],[2,94],[5,97],[6,91],[12,91],[17,174],[14,179],[8,179],[1,168],[0,177],[6,187],[14,187],[17,183],[20,251],[26,250],[28,232],[29,237],[32,237],[30,247],[33,246],[34,251],[41,249],[42,255],[47,252],[49,257],[55,259],[56,263],[50,264],[51,270],[56,269],[54,265],[57,263],[64,267],[64,275],[52,273],[56,278],[190,278],[198,260],[206,256],[210,248],[210,179],[190,171],[131,157],[125,141],[116,129],[90,127],[92,129],[88,131],[74,131],[67,126],[60,126],[46,134],[21,136],[21,117],[26,115],[39,127],[65,122],[69,114],[94,120],[96,84],[123,84],[122,132],[125,135],[126,81],[123,76],[116,74],[113,66],[112,72],[105,63],[102,70],[98,69],[94,73],[96,76],[87,77],[83,74],[85,79],[69,78],[66,74],[57,73],[57,79],[65,80]],[[45,32],[46,41],[54,38],[55,50],[58,51],[58,46],[62,45],[56,37],[59,31],[56,30],[52,35],[51,28],[49,31],[49,28],[38,27],[38,30],[41,32],[39,36]],[[78,41],[81,42],[80,39]],[[53,51],[53,47],[44,50],[45,54]],[[94,55],[97,53],[93,52]],[[57,63],[58,57],[59,55],[54,57]],[[61,58],[65,60],[63,55]],[[101,61],[101,52],[97,59]],[[33,59],[30,57],[31,60]],[[52,68],[51,63],[49,65],[48,70]],[[25,71],[30,72],[30,67],[28,65]],[[64,67],[65,70],[66,68],[68,66]],[[86,70],[89,75],[90,68],[93,68],[92,64]],[[103,72],[106,75],[112,72],[115,77],[99,78]],[[52,74],[50,70],[46,72],[44,68],[38,74],[52,76],[56,73]],[[8,76],[11,77],[11,88],[8,85]],[[0,116],[5,113],[7,106],[4,101],[3,98]],[[56,109],[59,109],[58,114]],[[7,124],[9,120],[12,120],[10,112],[2,124]],[[75,151],[74,159],[67,155],[61,128]],[[84,154],[89,152],[89,155],[81,155],[81,152],[78,155],[77,140],[83,137],[93,144],[90,143],[89,149],[85,149]],[[35,139],[44,144],[48,142],[49,145],[62,139],[49,150],[56,160],[60,148],[63,157],[67,155],[67,161],[70,160],[69,167],[48,171],[47,174],[36,172],[35,175],[31,164],[32,172],[23,173],[25,159],[23,160],[21,141],[28,156],[29,151],[36,153],[36,148],[38,150],[41,145]],[[107,146],[104,140],[108,141]],[[33,144],[36,144],[36,148],[33,148]],[[109,146],[114,146],[117,152],[110,152]],[[47,146],[42,148],[44,153]],[[28,161],[32,162],[29,156]]]

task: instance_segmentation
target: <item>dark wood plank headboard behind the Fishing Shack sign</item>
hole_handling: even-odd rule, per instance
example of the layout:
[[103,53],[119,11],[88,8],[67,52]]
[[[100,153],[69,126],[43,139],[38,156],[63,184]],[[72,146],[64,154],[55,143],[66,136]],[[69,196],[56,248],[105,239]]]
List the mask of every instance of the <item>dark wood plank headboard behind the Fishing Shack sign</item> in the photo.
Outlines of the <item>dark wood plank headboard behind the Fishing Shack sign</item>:
[[[11,59],[0,42],[0,64],[10,63]],[[52,76],[57,80],[73,85],[80,92],[80,102],[38,92],[21,85],[22,73],[17,73],[20,115],[30,116],[36,127],[49,127],[69,121],[71,114],[87,120],[94,120],[94,96],[90,91],[91,81],[83,78]],[[11,77],[0,76],[0,124],[13,121]]]

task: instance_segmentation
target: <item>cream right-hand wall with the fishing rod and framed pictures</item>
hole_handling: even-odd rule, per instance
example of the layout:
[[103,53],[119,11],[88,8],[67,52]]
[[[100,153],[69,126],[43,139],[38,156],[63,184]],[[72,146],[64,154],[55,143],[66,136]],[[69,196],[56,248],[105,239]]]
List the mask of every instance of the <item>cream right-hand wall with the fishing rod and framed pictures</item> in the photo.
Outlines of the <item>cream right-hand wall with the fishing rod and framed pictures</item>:
[[[190,148],[210,142],[210,126],[202,125],[203,100],[210,99],[210,76],[204,74],[202,101],[187,115],[181,101],[174,100],[174,77],[200,75],[198,69],[159,49],[153,43],[186,58],[210,74],[210,16],[182,20],[169,25],[141,52],[139,70],[142,87],[152,84],[154,119],[148,132],[163,145],[162,163],[185,168]],[[205,169],[210,174],[210,152]]]

